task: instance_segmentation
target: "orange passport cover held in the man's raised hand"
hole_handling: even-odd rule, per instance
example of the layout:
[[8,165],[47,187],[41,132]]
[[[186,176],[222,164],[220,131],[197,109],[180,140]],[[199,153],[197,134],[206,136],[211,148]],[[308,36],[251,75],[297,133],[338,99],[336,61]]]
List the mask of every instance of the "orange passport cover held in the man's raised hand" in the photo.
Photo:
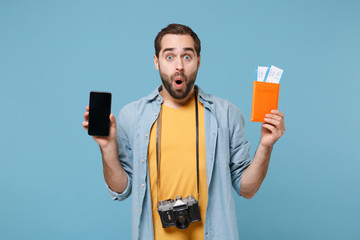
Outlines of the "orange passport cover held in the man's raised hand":
[[254,81],[251,121],[264,122],[265,114],[278,108],[279,83]]

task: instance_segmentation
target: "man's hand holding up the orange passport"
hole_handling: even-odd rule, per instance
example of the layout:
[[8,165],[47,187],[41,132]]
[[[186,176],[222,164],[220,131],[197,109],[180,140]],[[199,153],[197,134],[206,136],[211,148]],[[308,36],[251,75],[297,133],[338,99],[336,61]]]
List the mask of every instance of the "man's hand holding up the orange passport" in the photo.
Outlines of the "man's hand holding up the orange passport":
[[261,126],[260,144],[264,147],[272,147],[284,132],[284,114],[279,110],[271,110],[271,114],[265,115],[264,123]]

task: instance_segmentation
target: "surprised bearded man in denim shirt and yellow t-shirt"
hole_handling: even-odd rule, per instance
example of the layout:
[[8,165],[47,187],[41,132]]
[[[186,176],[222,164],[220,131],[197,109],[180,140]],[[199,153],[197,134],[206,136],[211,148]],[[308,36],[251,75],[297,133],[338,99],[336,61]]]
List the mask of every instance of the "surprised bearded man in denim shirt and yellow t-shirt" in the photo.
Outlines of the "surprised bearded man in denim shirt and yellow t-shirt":
[[[240,111],[195,86],[200,40],[170,24],[155,39],[162,85],[110,115],[109,137],[99,144],[113,199],[132,192],[133,239],[238,239],[231,184],[250,199],[265,178],[274,143],[285,131],[278,110],[267,114],[253,160]],[[88,128],[89,107],[83,127]],[[158,202],[181,195],[199,201],[200,221],[185,229],[162,226]]]

